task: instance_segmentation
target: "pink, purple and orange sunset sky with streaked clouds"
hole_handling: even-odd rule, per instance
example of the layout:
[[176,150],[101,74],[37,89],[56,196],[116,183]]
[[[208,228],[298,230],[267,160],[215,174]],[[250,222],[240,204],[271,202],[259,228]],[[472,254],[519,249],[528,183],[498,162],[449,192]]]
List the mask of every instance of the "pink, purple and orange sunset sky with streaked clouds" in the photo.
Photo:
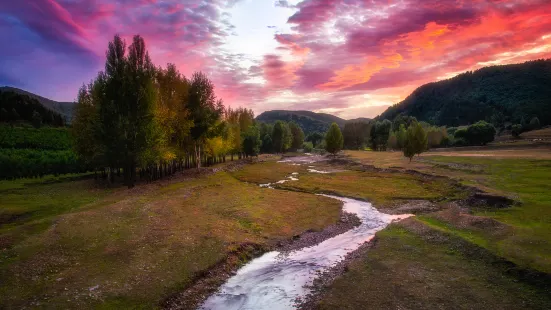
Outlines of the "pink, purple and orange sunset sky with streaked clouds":
[[2,0],[0,85],[73,101],[115,34],[207,73],[226,105],[351,119],[464,71],[551,58],[551,1]]

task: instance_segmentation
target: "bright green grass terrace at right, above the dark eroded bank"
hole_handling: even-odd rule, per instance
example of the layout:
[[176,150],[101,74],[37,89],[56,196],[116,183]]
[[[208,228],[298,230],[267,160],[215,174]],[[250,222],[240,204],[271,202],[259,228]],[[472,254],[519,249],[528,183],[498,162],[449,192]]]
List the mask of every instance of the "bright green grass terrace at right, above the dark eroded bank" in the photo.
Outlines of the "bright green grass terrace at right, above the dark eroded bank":
[[[475,215],[506,225],[506,235],[496,238],[493,227],[440,227],[462,236],[479,236],[478,244],[518,265],[551,273],[551,157],[549,149],[481,149],[432,152],[411,165],[397,155],[349,152],[356,160],[382,167],[415,169],[445,175],[486,192],[509,196],[519,203],[505,209],[475,210]],[[390,153],[394,154],[394,153]],[[445,219],[444,219],[445,221]],[[427,222],[427,224],[430,224]],[[463,237],[465,235],[463,234]]]

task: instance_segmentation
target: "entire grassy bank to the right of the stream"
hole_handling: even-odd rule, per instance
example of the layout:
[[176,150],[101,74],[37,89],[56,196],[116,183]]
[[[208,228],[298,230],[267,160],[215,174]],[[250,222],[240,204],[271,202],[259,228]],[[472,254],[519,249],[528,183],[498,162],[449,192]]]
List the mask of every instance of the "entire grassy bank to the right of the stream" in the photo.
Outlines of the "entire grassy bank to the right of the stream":
[[[379,232],[329,270],[302,307],[549,308],[550,255],[543,242],[549,209],[541,204],[551,201],[544,177],[549,155],[541,149],[486,152],[489,158],[480,156],[484,151],[428,153],[411,165],[398,153],[347,152],[348,158],[311,166],[338,172],[277,184],[418,215]],[[238,177],[260,182],[258,170],[246,167]]]

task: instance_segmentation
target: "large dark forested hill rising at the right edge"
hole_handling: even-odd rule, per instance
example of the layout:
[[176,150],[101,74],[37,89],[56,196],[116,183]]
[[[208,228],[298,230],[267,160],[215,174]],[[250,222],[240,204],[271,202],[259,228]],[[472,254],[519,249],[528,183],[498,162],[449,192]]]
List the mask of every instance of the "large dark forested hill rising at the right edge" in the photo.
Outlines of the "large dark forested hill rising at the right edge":
[[447,126],[486,120],[501,127],[535,116],[551,124],[551,59],[485,67],[425,84],[379,118],[401,113]]

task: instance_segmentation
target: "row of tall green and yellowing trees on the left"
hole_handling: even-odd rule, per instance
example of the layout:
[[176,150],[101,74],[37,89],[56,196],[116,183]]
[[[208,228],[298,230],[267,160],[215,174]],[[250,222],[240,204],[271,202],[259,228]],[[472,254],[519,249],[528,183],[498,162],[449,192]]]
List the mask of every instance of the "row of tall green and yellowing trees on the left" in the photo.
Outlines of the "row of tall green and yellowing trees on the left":
[[202,72],[190,78],[175,65],[155,66],[144,39],[109,42],[104,71],[81,87],[72,122],[76,153],[88,166],[132,187],[137,174],[154,180],[258,154],[251,110],[226,108]]

